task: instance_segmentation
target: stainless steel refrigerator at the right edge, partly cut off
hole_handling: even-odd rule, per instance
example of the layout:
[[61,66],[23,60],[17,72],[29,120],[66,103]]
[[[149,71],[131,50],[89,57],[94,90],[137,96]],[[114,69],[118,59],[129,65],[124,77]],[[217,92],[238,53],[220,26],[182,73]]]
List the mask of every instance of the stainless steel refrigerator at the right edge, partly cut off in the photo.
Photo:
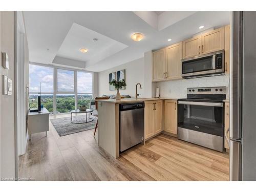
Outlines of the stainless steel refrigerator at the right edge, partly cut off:
[[230,180],[256,180],[256,12],[231,16]]

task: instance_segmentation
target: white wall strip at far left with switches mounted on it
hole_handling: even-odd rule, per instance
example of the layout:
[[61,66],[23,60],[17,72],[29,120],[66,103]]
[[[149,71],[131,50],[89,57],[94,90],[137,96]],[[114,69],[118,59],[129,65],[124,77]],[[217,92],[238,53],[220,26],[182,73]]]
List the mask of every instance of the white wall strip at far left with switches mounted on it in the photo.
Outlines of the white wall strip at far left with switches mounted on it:
[[[1,80],[3,75],[12,79],[12,95],[1,95],[1,177],[15,177],[15,127],[14,127],[14,12],[1,12],[1,52],[9,56],[9,70],[4,69],[1,61]],[[2,89],[0,90],[2,94]]]

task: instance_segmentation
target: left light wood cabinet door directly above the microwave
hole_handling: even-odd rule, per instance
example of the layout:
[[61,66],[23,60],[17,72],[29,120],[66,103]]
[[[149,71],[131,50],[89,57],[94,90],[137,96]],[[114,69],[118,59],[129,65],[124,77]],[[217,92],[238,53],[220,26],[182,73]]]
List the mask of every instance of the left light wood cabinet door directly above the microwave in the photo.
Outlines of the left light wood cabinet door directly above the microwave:
[[201,54],[201,35],[184,40],[182,44],[183,59]]

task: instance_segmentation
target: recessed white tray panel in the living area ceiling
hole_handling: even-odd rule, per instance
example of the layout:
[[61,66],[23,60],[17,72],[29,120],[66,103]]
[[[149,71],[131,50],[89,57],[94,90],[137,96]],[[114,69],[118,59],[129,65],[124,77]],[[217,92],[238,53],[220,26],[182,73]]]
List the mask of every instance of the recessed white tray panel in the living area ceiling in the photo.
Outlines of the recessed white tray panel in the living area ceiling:
[[[98,40],[94,42],[94,38]],[[74,23],[63,40],[56,56],[86,61],[86,63],[92,62],[92,60],[97,62],[126,47],[121,42]],[[81,48],[89,51],[81,53],[79,51]]]

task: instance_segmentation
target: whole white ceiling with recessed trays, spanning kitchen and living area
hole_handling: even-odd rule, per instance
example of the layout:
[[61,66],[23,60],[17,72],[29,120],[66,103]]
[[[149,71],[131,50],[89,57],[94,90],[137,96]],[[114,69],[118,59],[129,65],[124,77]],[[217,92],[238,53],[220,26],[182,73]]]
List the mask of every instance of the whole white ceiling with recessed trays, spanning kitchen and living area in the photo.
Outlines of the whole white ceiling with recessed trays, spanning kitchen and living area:
[[[143,57],[144,52],[175,44],[211,27],[229,23],[229,12],[164,11],[157,30],[132,11],[24,12],[29,60],[103,71]],[[159,20],[159,18],[161,19]],[[198,27],[204,25],[204,29]],[[158,26],[159,28],[159,26]],[[136,42],[131,34],[141,32]],[[93,38],[98,38],[93,42]],[[167,39],[172,38],[172,41]],[[80,48],[87,48],[85,54]]]

